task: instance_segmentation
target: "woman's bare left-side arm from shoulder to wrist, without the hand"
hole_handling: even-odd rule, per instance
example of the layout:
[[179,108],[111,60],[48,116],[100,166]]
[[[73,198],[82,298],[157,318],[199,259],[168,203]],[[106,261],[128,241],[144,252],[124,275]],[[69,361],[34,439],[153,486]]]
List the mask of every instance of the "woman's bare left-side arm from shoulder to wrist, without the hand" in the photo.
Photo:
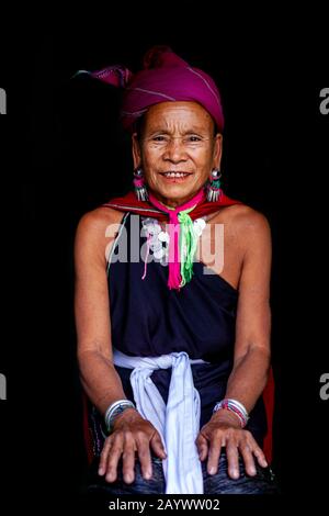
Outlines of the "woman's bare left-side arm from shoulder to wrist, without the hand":
[[109,217],[105,215],[99,210],[86,214],[75,242],[75,314],[81,382],[102,414],[114,401],[126,399],[113,366],[105,258]]

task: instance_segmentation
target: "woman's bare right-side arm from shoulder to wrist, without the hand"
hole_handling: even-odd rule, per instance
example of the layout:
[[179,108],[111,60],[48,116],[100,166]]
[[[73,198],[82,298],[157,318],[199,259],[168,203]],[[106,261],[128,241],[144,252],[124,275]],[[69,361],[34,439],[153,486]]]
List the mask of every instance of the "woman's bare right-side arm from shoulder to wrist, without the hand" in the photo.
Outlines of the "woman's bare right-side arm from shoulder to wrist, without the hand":
[[253,212],[245,232],[239,282],[234,368],[226,397],[250,412],[268,380],[271,357],[271,232],[266,218]]

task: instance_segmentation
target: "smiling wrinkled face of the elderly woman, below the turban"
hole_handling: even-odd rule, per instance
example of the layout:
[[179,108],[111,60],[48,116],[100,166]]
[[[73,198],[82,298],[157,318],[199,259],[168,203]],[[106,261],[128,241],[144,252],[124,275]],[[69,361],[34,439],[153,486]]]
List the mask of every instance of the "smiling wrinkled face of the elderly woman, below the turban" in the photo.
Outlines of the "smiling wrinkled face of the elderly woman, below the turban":
[[134,167],[167,206],[188,202],[218,169],[222,135],[196,102],[161,102],[149,108],[141,134],[133,135]]

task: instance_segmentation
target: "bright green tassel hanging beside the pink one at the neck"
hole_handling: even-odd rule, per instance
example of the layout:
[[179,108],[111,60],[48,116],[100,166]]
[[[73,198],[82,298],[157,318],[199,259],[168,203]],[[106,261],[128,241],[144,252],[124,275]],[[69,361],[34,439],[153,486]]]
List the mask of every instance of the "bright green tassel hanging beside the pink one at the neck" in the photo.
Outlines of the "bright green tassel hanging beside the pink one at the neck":
[[180,287],[184,287],[193,277],[193,261],[197,248],[198,237],[194,233],[193,221],[189,213],[195,206],[184,210],[178,214],[180,221],[180,257],[181,257],[181,277]]

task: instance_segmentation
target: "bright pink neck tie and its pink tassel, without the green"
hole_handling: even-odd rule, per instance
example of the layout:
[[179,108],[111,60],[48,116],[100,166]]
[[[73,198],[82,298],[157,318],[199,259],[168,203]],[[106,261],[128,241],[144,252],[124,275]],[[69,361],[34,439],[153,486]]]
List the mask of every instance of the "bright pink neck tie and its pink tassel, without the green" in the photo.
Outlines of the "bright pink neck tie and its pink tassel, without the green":
[[164,206],[158,199],[149,192],[149,202],[162,212],[168,213],[169,215],[169,278],[168,287],[169,289],[181,289],[182,276],[180,261],[181,257],[179,255],[179,243],[180,243],[180,222],[178,215],[185,210],[196,206],[200,202],[204,201],[205,192],[202,188],[193,199],[188,201],[184,204],[177,206],[175,209],[170,209]]

